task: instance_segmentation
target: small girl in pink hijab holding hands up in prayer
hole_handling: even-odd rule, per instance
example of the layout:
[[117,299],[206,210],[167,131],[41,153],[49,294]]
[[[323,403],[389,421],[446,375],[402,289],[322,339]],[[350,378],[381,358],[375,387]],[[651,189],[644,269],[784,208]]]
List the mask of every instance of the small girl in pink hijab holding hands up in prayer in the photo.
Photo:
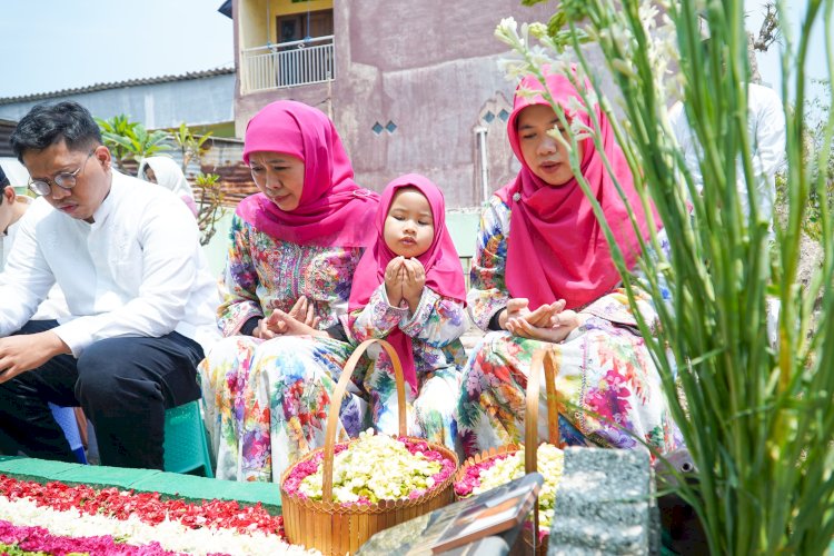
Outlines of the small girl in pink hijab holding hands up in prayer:
[[[455,448],[453,418],[466,363],[464,272],[446,229],[440,190],[416,173],[391,181],[377,210],[377,241],[354,276],[348,306],[356,341],[385,338],[407,383],[408,433]],[[376,350],[365,387],[377,429],[397,433],[394,368]]]

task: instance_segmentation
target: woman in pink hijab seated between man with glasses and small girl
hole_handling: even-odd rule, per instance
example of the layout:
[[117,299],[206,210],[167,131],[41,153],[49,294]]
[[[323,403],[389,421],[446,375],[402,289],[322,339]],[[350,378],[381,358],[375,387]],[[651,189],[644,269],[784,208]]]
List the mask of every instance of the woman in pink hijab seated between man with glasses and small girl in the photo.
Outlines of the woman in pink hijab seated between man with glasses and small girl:
[[[327,116],[300,102],[272,102],[249,121],[244,162],[260,192],[232,218],[217,311],[226,338],[200,376],[217,477],[277,481],[324,446],[329,396],[353,349],[340,318],[375,240],[379,196],[354,182]],[[342,404],[341,435],[363,429],[358,393]]]

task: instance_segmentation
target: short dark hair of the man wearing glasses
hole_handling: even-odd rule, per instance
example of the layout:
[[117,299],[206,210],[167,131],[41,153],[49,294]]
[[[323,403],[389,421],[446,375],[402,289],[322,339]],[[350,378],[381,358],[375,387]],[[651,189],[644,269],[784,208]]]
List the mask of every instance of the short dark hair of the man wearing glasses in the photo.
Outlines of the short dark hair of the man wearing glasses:
[[101,145],[101,131],[89,110],[66,100],[33,106],[10,138],[11,148],[21,162],[26,151],[41,151],[60,140],[64,140],[70,150],[86,150]]

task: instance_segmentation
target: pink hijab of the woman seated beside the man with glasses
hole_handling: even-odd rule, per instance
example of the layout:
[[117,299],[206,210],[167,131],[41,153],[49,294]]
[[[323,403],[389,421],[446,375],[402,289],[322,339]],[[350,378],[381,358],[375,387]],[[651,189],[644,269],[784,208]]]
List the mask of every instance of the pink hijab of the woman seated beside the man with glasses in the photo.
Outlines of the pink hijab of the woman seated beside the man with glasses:
[[299,245],[367,247],[379,196],[354,181],[354,169],[330,119],[292,100],[267,105],[249,120],[244,162],[252,152],[284,152],[305,163],[301,199],[284,211],[264,193],[247,197],[240,218],[277,239]]

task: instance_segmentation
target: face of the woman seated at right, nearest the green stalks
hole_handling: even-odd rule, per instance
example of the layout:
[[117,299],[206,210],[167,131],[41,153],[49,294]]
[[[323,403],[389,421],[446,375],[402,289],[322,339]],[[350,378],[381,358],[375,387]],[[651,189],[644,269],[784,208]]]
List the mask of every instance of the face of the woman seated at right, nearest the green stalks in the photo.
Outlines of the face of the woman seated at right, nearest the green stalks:
[[[548,133],[549,130],[556,128],[567,140],[567,132],[562,128],[553,108],[545,105],[530,105],[519,112],[516,126],[524,161],[533,173],[553,187],[564,186],[574,178],[567,148]],[[582,160],[582,141],[578,142],[577,153]]]

